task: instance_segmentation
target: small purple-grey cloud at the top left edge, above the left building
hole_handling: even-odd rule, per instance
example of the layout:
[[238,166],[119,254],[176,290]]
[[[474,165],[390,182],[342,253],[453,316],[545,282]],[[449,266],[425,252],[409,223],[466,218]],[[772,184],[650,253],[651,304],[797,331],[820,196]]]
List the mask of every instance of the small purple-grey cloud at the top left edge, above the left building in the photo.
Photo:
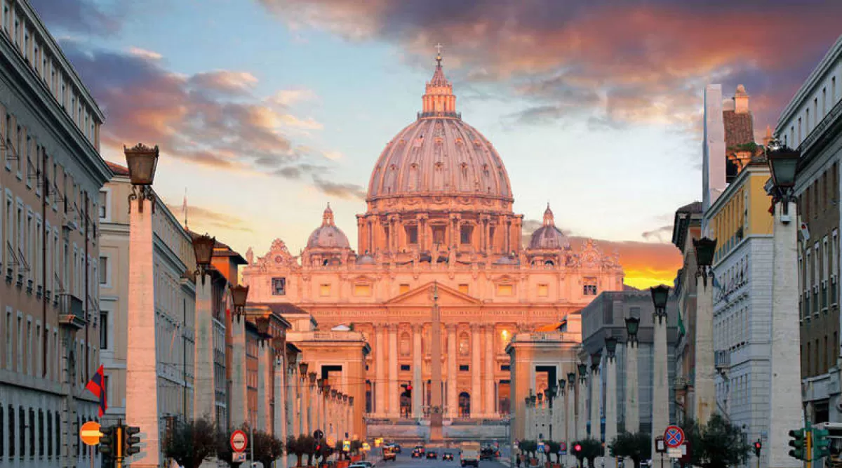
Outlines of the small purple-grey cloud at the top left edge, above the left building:
[[29,3],[50,29],[99,37],[120,31],[127,8],[125,3],[116,3],[113,11],[106,11],[89,0],[29,0]]

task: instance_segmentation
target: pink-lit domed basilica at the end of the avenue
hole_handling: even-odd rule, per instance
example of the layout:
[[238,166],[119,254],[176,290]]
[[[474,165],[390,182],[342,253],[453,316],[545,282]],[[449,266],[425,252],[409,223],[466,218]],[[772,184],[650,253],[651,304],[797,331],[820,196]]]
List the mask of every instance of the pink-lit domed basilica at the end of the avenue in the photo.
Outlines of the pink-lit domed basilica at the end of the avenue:
[[[433,366],[441,369],[445,422],[505,417],[513,336],[579,334],[578,311],[600,291],[623,288],[616,254],[591,240],[569,242],[549,205],[543,225],[523,242],[523,215],[512,210],[503,160],[462,120],[440,55],[436,61],[421,112],[374,164],[355,246],[328,205],[300,255],[276,239],[263,256],[249,248],[242,269],[253,305],[295,306],[319,331],[365,336],[363,379],[344,378],[328,360],[316,364],[333,369],[331,380],[365,402],[360,412],[369,427],[423,425]],[[440,363],[430,354],[434,289]]]

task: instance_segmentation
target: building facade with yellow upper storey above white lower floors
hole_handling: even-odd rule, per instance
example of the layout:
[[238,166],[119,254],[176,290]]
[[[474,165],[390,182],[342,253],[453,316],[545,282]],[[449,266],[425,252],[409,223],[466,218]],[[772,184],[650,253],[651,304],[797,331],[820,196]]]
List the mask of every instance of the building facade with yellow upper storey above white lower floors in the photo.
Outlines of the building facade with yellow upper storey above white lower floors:
[[[765,157],[754,157],[706,211],[713,258],[717,410],[749,440],[769,431],[772,215]],[[766,462],[761,460],[761,465]]]

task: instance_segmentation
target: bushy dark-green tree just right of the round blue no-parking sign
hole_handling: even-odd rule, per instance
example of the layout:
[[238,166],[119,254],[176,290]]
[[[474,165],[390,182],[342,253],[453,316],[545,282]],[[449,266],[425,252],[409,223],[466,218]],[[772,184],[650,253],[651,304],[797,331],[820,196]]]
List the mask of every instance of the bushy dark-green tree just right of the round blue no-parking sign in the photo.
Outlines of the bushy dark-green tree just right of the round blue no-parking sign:
[[705,426],[695,421],[684,424],[690,444],[690,464],[701,468],[727,468],[745,465],[751,445],[743,439],[743,431],[714,414]]

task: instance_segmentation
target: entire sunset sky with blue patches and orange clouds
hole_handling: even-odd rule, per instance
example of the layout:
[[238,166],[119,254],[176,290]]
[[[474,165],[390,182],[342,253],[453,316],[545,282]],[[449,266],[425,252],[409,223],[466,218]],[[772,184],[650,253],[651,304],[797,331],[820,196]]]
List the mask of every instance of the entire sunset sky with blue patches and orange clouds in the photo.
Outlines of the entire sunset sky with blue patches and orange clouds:
[[[749,92],[758,139],[842,33],[802,0],[29,0],[105,114],[105,159],[158,145],[155,189],[244,253],[355,215],[415,119],[434,45],[463,120],[503,158],[514,210],[549,203],[626,284],[671,284],[674,211],[701,199],[702,91]],[[528,234],[528,229],[526,230]]]

